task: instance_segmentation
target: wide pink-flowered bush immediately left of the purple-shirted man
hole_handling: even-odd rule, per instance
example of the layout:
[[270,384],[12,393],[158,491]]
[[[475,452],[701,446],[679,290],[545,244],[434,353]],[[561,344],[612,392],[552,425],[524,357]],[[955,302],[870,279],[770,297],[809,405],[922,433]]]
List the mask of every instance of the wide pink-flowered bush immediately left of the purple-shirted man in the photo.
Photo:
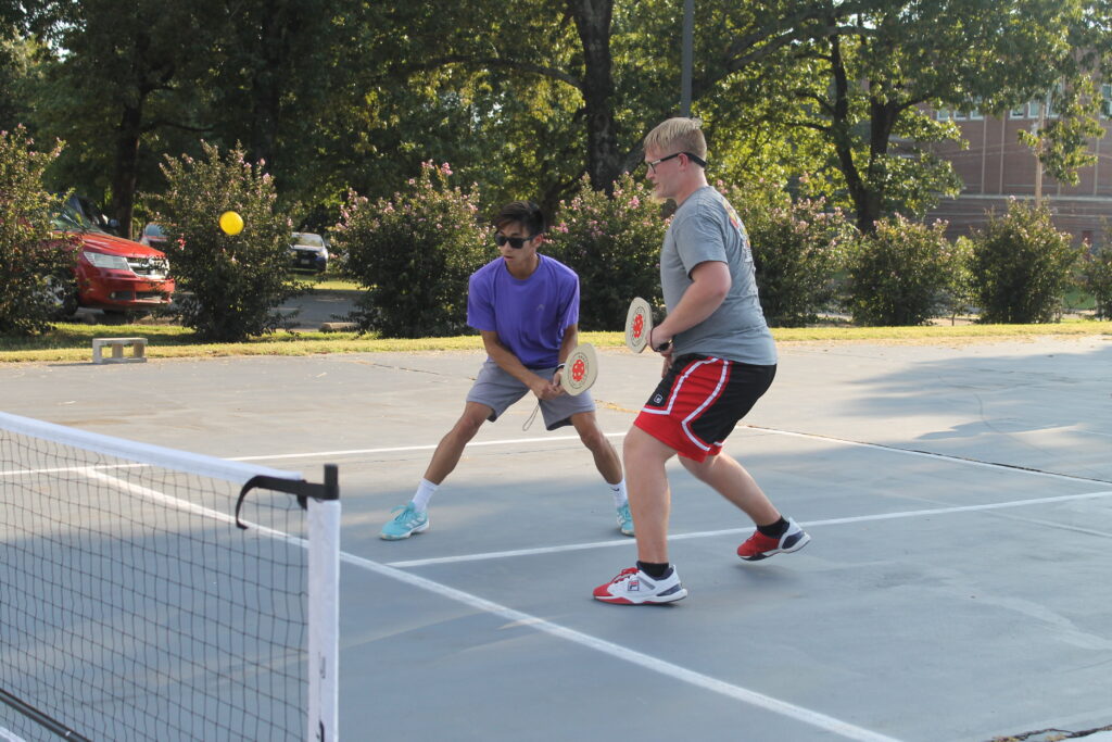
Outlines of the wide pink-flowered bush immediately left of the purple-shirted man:
[[493,231],[478,221],[478,192],[449,187],[447,162],[391,198],[355,192],[334,233],[346,270],[366,294],[353,313],[359,329],[384,337],[456,335],[467,327],[467,279],[488,260]]

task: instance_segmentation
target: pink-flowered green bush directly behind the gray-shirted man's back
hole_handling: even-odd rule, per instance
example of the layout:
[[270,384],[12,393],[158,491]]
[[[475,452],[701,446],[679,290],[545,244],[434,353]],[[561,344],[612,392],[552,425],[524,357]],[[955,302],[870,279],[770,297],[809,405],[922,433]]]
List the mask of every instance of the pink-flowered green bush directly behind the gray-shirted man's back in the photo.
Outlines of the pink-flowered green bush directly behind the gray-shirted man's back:
[[772,327],[814,323],[835,293],[854,229],[826,200],[793,200],[783,185],[756,180],[745,188],[716,184],[745,224],[753,249],[761,308]]

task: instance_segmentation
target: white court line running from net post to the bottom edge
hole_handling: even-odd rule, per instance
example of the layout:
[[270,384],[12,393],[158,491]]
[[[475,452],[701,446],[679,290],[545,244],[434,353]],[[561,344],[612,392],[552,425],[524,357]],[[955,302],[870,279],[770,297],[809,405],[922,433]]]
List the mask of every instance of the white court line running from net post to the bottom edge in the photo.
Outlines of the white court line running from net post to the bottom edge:
[[[687,667],[683,667],[666,660],[631,650],[622,646],[620,644],[615,644],[604,639],[592,636],[590,634],[584,634],[583,632],[546,621],[539,616],[507,607],[500,603],[488,601],[484,597],[479,597],[478,595],[474,595],[455,587],[449,587],[448,585],[394,568],[379,562],[374,562],[361,556],[355,556],[354,554],[348,554],[347,552],[340,553],[340,560],[354,566],[361,567],[369,572],[375,572],[385,577],[397,580],[398,582],[403,582],[419,590],[463,603],[483,613],[499,616],[523,627],[533,629],[548,634],[549,636],[562,639],[564,641],[572,642],[573,644],[578,644],[579,646],[609,655],[617,660],[629,662],[673,680],[688,683],[703,690],[713,691],[714,693],[725,695],[726,698],[735,701],[741,701],[742,703],[770,711],[781,716],[787,716],[788,719],[793,719],[826,732],[838,734],[840,736],[848,740],[857,740],[860,742],[898,742],[895,738],[885,736],[867,729],[850,724],[840,719],[828,716],[824,713],[812,711],[811,709],[805,709],[786,701],[781,701],[780,699],[775,699],[771,695],[751,691],[747,687],[734,685],[723,680],[718,680],[717,677],[704,675],[703,673],[688,670]],[[631,609],[605,610],[622,611]]]

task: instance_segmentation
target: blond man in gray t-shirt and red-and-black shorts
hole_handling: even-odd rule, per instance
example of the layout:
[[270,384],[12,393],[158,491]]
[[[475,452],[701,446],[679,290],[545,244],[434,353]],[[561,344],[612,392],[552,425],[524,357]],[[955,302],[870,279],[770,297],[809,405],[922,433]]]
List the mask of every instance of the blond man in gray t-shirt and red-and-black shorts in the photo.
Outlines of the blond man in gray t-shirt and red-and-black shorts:
[[648,179],[677,205],[661,250],[667,318],[649,333],[664,358],[661,384],[626,435],[624,458],[637,566],[595,588],[606,603],[669,603],[687,595],[668,562],[671,492],[664,465],[684,468],[736,505],[757,530],[737,555],[757,561],[803,548],[811,536],[784,518],[722,444],[776,375],[745,227],[706,181],[706,140],[695,119],[674,118],[645,137]]

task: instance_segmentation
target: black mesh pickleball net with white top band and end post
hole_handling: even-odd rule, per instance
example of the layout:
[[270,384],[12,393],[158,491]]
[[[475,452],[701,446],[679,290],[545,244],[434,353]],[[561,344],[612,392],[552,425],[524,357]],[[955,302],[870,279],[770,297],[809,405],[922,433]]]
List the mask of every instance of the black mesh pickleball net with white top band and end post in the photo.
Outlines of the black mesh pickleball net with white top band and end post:
[[338,567],[335,466],[0,413],[0,740],[336,739]]

